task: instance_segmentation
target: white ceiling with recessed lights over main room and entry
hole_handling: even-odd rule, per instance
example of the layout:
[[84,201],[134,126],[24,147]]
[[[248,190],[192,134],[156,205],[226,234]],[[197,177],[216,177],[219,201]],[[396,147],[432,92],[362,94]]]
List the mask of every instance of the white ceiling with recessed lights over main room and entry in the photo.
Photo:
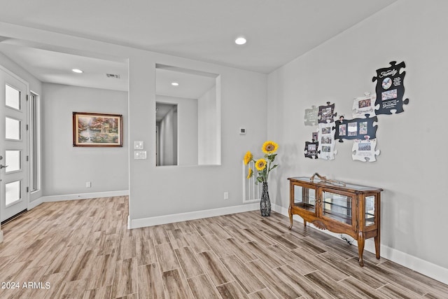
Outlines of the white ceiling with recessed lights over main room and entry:
[[[395,1],[0,0],[0,22],[269,74]],[[240,35],[244,46],[234,43]],[[127,90],[125,62],[1,36],[0,52],[43,82]],[[73,67],[85,72],[71,74]]]

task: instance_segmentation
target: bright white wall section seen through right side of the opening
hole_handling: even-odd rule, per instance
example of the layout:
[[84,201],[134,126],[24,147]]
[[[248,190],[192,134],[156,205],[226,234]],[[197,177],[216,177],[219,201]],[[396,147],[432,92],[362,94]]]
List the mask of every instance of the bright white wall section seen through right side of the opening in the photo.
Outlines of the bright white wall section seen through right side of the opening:
[[198,162],[200,165],[217,165],[218,140],[216,139],[216,116],[219,111],[216,99],[216,86],[207,90],[199,99],[198,106]]

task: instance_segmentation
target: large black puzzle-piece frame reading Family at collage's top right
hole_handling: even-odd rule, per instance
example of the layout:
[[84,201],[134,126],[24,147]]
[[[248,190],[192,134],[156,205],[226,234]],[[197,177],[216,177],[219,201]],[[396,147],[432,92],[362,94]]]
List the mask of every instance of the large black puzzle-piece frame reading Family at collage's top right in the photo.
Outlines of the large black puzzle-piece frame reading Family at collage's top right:
[[409,99],[403,100],[405,94],[405,75],[406,71],[400,70],[406,67],[405,62],[396,64],[395,61],[390,62],[391,67],[384,69],[377,69],[377,76],[372,78],[372,82],[377,81],[377,99],[375,106],[379,108],[375,113],[379,114],[393,114],[402,113],[403,104],[408,104]]

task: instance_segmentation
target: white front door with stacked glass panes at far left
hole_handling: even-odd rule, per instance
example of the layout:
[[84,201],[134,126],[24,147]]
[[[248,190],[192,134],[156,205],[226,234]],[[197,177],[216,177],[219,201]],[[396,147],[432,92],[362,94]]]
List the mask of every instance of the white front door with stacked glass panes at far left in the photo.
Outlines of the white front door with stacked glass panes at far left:
[[0,221],[28,206],[28,83],[0,67]]

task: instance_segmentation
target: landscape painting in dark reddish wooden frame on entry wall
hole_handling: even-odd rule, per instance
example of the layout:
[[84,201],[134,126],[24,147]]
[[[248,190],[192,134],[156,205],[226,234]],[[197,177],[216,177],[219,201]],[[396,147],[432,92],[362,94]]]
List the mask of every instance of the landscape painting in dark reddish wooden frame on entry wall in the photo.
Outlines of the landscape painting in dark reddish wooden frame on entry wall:
[[73,112],[73,146],[123,146],[123,116]]

